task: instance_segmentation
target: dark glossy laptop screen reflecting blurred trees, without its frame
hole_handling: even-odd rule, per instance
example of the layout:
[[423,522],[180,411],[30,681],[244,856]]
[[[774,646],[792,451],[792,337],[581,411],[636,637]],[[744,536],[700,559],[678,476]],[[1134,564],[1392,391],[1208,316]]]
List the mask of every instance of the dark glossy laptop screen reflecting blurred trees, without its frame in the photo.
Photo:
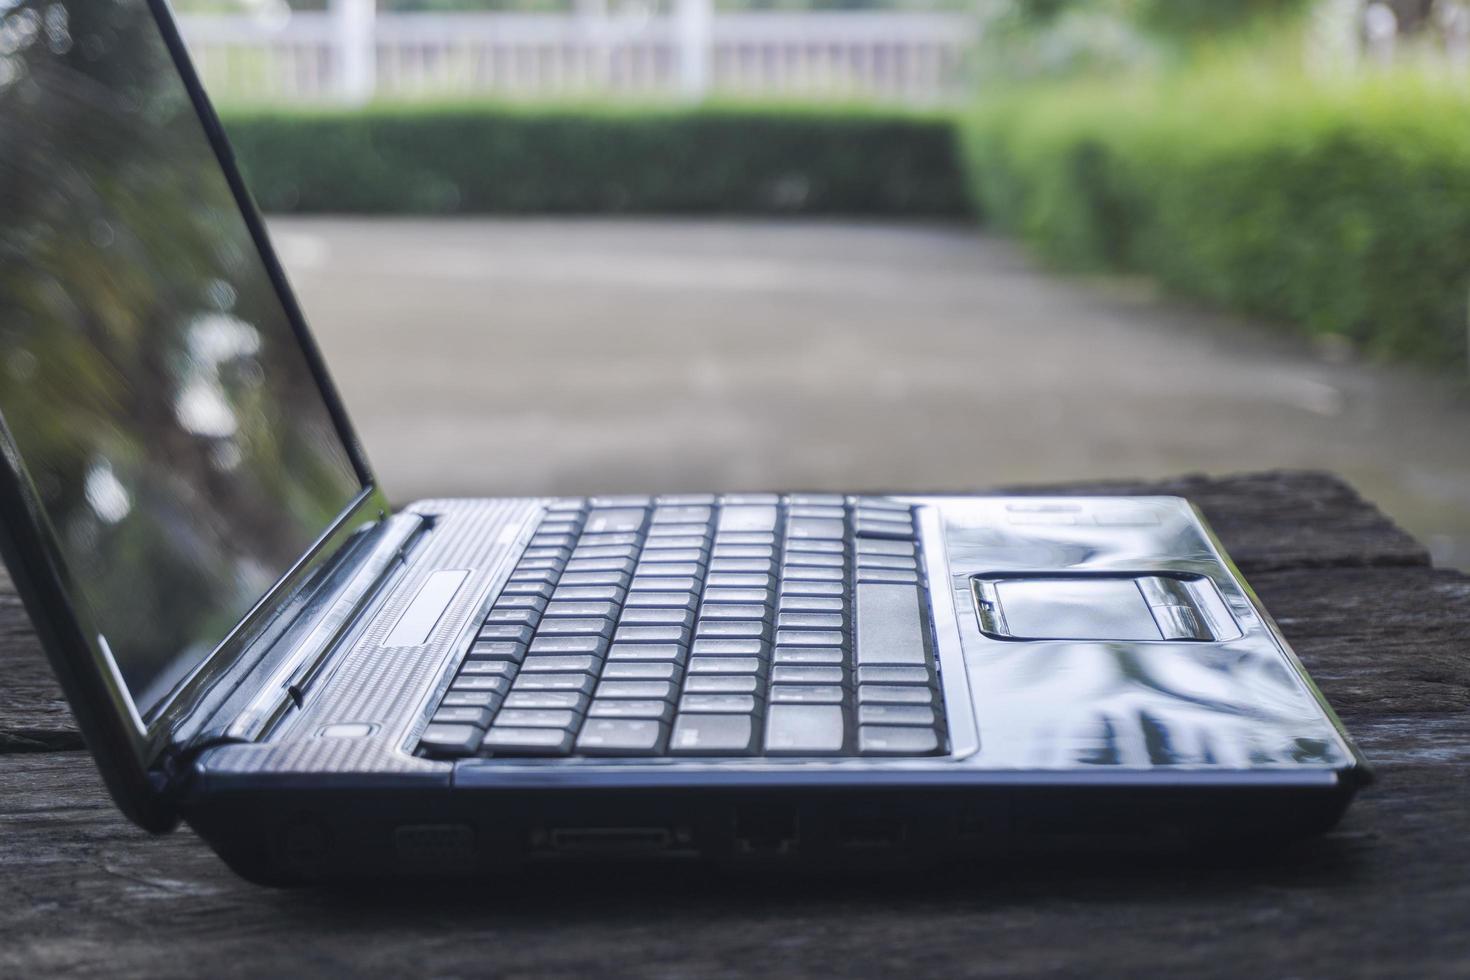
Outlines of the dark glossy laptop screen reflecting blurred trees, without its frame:
[[143,0],[0,6],[0,417],[143,717],[362,492]]

